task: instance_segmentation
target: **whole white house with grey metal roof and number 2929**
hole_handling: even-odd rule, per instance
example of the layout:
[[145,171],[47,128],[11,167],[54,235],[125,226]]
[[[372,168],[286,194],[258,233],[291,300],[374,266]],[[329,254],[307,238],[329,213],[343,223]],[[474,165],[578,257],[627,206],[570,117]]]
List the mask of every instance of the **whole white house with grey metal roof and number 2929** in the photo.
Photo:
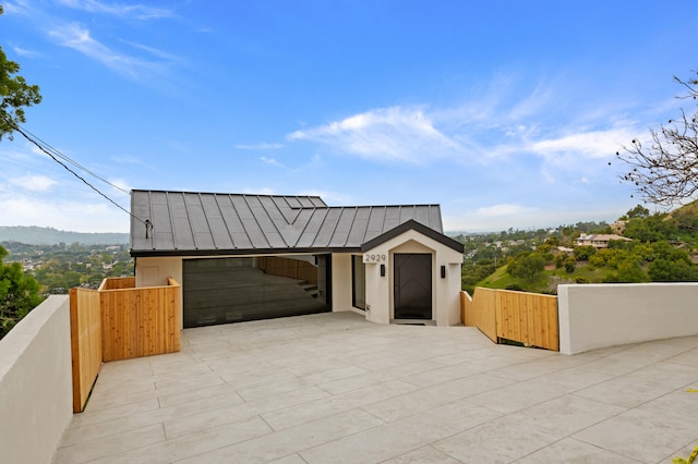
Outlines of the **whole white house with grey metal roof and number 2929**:
[[318,312],[460,322],[464,245],[438,205],[132,191],[136,286],[181,283],[183,326]]

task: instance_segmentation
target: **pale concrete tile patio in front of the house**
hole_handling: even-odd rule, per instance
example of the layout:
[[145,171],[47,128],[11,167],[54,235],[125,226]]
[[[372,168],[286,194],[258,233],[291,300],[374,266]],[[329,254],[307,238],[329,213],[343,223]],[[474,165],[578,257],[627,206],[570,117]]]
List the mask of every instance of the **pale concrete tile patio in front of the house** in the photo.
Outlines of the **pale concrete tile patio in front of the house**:
[[659,463],[698,444],[698,337],[565,356],[353,313],[186,329],[105,364],[62,463]]

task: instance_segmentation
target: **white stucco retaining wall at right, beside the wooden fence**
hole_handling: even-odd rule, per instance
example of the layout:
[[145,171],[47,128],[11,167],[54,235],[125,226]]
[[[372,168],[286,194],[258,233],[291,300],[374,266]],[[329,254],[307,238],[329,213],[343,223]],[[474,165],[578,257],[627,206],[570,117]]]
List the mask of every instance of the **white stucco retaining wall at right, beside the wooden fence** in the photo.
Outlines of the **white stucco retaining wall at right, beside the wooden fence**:
[[698,283],[558,285],[559,351],[698,334]]

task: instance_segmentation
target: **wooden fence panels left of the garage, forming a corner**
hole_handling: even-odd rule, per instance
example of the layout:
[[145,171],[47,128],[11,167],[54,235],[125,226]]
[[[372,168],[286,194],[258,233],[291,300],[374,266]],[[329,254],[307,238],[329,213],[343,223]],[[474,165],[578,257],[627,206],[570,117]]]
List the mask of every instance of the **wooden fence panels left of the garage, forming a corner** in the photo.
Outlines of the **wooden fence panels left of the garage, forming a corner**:
[[135,288],[135,279],[106,279],[100,290],[71,289],[73,412],[85,407],[103,362],[180,350],[179,283]]

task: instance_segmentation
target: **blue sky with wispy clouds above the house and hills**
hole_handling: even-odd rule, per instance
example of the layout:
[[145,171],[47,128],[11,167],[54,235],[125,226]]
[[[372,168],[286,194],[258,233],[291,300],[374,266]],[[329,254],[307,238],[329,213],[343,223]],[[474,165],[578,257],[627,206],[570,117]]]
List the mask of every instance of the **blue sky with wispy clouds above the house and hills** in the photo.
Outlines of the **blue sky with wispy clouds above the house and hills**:
[[[607,162],[698,68],[683,0],[1,3],[24,127],[112,183],[437,203],[447,231],[615,220]],[[0,163],[0,225],[128,231],[21,136]]]

